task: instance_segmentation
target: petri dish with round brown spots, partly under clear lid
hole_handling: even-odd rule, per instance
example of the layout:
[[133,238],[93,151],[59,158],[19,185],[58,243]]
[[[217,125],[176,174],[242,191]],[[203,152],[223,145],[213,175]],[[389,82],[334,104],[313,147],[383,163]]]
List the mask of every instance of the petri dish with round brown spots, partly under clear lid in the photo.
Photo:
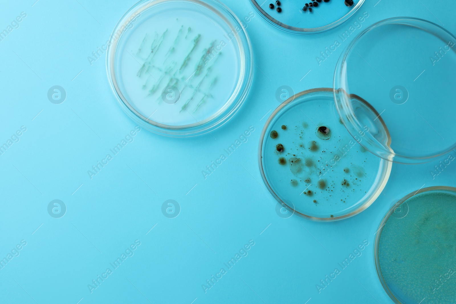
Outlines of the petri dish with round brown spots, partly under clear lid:
[[363,134],[354,139],[342,125],[331,88],[298,93],[275,109],[261,133],[264,183],[290,214],[315,221],[358,214],[383,190],[392,165],[358,141]]

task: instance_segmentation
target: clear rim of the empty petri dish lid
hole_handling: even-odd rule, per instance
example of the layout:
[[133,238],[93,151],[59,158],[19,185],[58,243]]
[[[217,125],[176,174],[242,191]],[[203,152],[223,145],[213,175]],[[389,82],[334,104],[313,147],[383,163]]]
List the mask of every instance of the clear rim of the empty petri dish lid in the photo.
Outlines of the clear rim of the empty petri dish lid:
[[[346,75],[344,73],[344,69],[343,69],[343,67],[345,66],[345,63],[347,61],[347,57],[350,54],[350,52],[352,51],[352,49],[356,46],[358,41],[363,36],[365,36],[369,31],[372,31],[373,29],[375,29],[379,26],[383,26],[383,25],[387,25],[387,24],[395,24],[395,23],[401,24],[401,21],[402,22],[414,22],[416,24],[425,23],[430,26],[435,26],[436,28],[438,28],[439,31],[446,32],[446,34],[452,36],[456,41],[456,36],[454,36],[450,31],[446,30],[445,28],[439,26],[438,24],[435,24],[434,22],[431,22],[431,21],[428,21],[425,19],[421,19],[421,18],[405,17],[405,16],[393,17],[393,18],[388,18],[388,19],[378,21],[378,22],[368,26],[358,36],[356,36],[340,55],[340,57],[337,61],[336,69],[334,71],[334,78],[333,78],[334,101],[336,103],[336,109],[337,109],[337,112],[339,113],[339,116],[341,117],[342,123],[347,128],[347,130],[350,134],[352,134],[352,133],[356,134],[362,128],[361,128],[361,123],[358,121],[356,116],[353,115],[353,113],[350,111],[351,103],[349,102],[349,99],[347,98],[348,94],[347,94],[346,90],[344,89],[344,86],[342,85],[343,82],[345,82],[345,83],[347,82],[347,77],[346,77]],[[402,24],[404,24],[404,23],[402,23]],[[411,26],[410,24],[407,24],[407,25]],[[415,26],[415,27],[419,28],[422,31],[426,31],[426,29],[423,27],[420,27],[420,26]],[[432,34],[435,35],[435,33],[432,33]],[[344,117],[349,117],[351,120],[353,120],[354,124],[349,124],[349,122],[347,122],[347,120],[344,119]],[[378,116],[378,118],[381,118],[381,116]],[[368,135],[369,140],[364,141],[364,143],[369,142],[369,141],[370,142],[375,141],[372,139],[373,137],[370,133],[367,133],[367,135]],[[413,156],[406,156],[406,155],[400,155],[400,154],[394,153],[393,149],[391,149],[391,147],[390,147],[390,144],[391,144],[391,137],[389,137],[386,147],[382,146],[381,149],[383,149],[383,151],[376,151],[375,149],[373,149],[373,147],[368,146],[366,144],[361,144],[361,145],[368,151],[372,152],[374,155],[377,155],[378,157],[380,157],[384,160],[393,161],[394,163],[399,163],[399,164],[427,163],[432,160],[438,159],[440,156],[446,155],[449,152],[451,152],[452,150],[456,149],[456,143],[455,143],[447,150],[441,151],[438,154],[425,155],[425,156],[421,156],[421,157],[413,157]]]

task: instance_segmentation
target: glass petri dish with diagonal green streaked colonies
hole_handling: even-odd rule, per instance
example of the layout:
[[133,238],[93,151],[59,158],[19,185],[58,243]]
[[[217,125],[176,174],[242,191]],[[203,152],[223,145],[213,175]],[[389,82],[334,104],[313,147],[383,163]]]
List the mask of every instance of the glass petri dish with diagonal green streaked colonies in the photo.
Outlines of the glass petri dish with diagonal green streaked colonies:
[[167,136],[210,132],[244,102],[253,76],[249,37],[217,0],[143,0],[109,40],[109,81],[124,111]]

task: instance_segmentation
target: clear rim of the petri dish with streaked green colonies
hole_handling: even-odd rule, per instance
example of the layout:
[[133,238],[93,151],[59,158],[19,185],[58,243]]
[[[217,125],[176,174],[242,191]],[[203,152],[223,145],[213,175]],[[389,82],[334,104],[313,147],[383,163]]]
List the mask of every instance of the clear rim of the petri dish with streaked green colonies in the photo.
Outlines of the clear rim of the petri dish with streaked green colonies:
[[[167,125],[157,123],[149,118],[146,118],[144,115],[139,113],[135,107],[133,107],[127,98],[125,98],[122,90],[119,88],[115,73],[115,60],[116,60],[116,50],[119,44],[122,35],[128,30],[128,25],[131,20],[134,19],[133,16],[140,15],[141,12],[150,9],[154,5],[158,5],[165,2],[192,2],[195,5],[202,5],[209,10],[212,10],[218,17],[220,17],[223,22],[225,22],[231,31],[237,33],[234,35],[236,37],[236,42],[238,45],[239,58],[240,58],[240,74],[238,77],[238,82],[234,88],[233,93],[230,98],[223,104],[223,107],[220,108],[216,113],[212,114],[210,117],[194,123],[186,125]],[[228,17],[232,19],[233,22],[228,20]],[[236,31],[236,28],[239,28],[240,31]],[[119,36],[113,39],[116,33],[121,32]],[[111,43],[111,41],[113,41]],[[248,54],[248,55],[247,55]],[[247,94],[253,80],[254,73],[254,63],[253,63],[253,49],[250,42],[249,35],[245,28],[241,26],[241,21],[233,13],[228,6],[224,5],[218,0],[140,0],[135,5],[130,7],[124,15],[119,19],[114,30],[111,33],[109,38],[108,51],[106,53],[106,71],[108,73],[109,83],[111,89],[116,96],[117,102],[121,106],[127,115],[130,116],[136,123],[140,124],[145,129],[148,129],[154,133],[165,135],[165,136],[175,136],[175,137],[188,137],[196,136],[199,134],[204,134],[210,132],[214,129],[217,129],[224,123],[228,121],[241,107],[244,103]],[[250,62],[250,64],[248,64]]]

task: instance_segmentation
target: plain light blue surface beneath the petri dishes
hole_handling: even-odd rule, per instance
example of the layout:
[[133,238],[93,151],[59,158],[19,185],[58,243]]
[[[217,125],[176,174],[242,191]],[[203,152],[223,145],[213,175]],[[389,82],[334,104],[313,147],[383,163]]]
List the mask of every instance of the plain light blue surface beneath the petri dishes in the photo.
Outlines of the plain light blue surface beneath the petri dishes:
[[[1,31],[26,13],[0,41],[0,144],[26,128],[0,155],[0,258],[11,253],[0,269],[1,303],[392,303],[373,264],[378,223],[406,194],[422,186],[454,185],[456,165],[450,162],[436,175],[439,161],[394,164],[378,200],[347,220],[284,219],[259,174],[259,135],[264,115],[279,104],[277,88],[288,85],[300,92],[332,86],[348,41],[320,65],[316,56],[354,18],[368,12],[365,28],[409,15],[442,22],[454,33],[454,3],[366,1],[342,26],[318,36],[285,34],[255,12],[247,27],[254,82],[233,119],[212,135],[190,139],[134,132],[91,179],[87,171],[135,124],[114,99],[104,57],[90,64],[88,56],[108,41],[135,1],[34,2],[0,5]],[[240,18],[254,11],[246,0],[223,2]],[[54,85],[67,93],[61,104],[47,98]],[[249,126],[254,131],[248,140],[204,178],[202,170]],[[67,207],[60,218],[48,213],[55,199]],[[161,211],[170,199],[180,205],[175,218]],[[254,246],[243,249],[249,240]],[[26,245],[13,251],[21,241]],[[362,255],[342,269],[338,263],[363,242],[368,245]],[[131,244],[135,250],[127,250]],[[110,263],[124,252],[125,260],[114,269]],[[244,257],[232,268],[225,266],[238,252]],[[103,274],[107,268],[109,275]],[[319,290],[316,284],[335,268],[340,273]],[[91,293],[88,284],[98,275],[105,279]],[[212,275],[219,279],[205,292],[202,284]]]

